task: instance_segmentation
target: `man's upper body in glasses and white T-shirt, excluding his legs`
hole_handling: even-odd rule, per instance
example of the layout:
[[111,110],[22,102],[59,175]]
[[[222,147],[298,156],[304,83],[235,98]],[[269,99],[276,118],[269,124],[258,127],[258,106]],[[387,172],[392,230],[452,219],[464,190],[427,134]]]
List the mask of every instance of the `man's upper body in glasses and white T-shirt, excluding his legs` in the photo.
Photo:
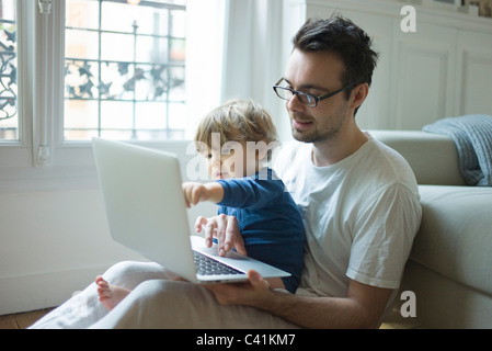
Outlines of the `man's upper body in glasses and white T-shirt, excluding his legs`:
[[421,206],[407,162],[356,125],[376,59],[367,35],[340,18],[310,20],[295,36],[277,83],[285,87],[274,89],[287,100],[293,136],[312,143],[284,150],[276,168],[304,213],[301,287],[282,294],[251,272],[248,288],[210,287],[219,303],[253,306],[308,328],[379,325],[399,286]]

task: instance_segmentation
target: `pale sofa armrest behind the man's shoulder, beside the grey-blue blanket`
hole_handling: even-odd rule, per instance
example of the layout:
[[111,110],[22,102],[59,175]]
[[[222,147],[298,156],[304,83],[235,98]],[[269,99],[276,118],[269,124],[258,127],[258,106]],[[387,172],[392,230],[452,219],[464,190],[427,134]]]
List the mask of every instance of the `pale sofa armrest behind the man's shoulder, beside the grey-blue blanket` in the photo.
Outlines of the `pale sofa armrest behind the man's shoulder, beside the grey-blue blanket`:
[[421,131],[368,131],[403,156],[419,184],[466,185],[451,138]]

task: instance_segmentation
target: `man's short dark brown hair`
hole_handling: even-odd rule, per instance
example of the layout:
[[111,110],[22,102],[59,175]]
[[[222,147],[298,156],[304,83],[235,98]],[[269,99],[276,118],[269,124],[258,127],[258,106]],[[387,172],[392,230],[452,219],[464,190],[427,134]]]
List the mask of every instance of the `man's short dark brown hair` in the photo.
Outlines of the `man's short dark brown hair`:
[[[334,15],[328,20],[308,19],[293,38],[294,48],[305,53],[330,52],[345,65],[343,86],[373,81],[378,54],[370,46],[371,38],[351,20]],[[345,90],[348,99],[352,88]]]

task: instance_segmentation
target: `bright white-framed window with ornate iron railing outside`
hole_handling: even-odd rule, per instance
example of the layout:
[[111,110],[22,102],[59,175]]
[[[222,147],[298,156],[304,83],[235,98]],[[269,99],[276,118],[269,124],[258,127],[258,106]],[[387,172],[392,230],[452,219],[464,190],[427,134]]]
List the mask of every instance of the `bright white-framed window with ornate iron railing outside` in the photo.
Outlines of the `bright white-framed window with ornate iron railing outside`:
[[220,101],[224,15],[224,0],[0,0],[0,192],[98,186],[93,136],[186,157]]

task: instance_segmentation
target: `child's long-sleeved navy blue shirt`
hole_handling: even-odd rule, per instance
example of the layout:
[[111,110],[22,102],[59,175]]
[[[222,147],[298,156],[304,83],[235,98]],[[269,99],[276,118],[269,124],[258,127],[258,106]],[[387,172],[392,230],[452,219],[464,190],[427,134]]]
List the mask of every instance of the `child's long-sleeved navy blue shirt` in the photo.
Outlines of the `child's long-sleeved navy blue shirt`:
[[254,177],[218,180],[224,188],[219,214],[234,216],[249,257],[287,271],[295,293],[304,267],[305,230],[296,203],[270,168]]

